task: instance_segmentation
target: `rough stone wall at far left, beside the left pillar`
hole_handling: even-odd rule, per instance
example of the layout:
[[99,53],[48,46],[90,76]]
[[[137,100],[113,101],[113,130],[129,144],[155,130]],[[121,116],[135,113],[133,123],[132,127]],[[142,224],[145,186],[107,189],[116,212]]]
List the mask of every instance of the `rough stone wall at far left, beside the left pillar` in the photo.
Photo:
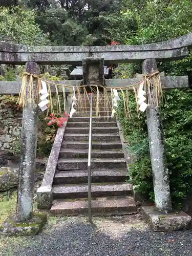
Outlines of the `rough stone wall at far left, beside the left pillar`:
[[22,130],[22,112],[8,105],[0,109],[0,150],[15,152],[19,145]]

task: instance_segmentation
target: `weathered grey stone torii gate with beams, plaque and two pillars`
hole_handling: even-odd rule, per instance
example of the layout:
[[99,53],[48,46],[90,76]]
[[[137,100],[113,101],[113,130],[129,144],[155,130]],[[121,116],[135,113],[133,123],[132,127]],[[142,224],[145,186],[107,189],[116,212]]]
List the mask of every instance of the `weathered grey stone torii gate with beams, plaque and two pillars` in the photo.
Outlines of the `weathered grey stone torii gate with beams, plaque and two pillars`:
[[[2,42],[0,47],[0,64],[26,65],[26,71],[39,74],[38,65],[76,64],[83,67],[83,82],[108,87],[127,87],[142,82],[135,79],[105,79],[104,65],[110,63],[142,62],[142,73],[145,76],[158,71],[156,61],[172,61],[186,57],[192,47],[192,33],[174,40],[156,44],[138,46],[98,46],[98,47],[47,47],[12,45]],[[92,75],[90,75],[92,74]],[[94,76],[93,76],[94,74]],[[65,80],[60,83],[71,86],[79,85],[78,80]],[[187,76],[161,77],[162,89],[188,87]],[[19,81],[0,82],[0,94],[20,92]],[[55,88],[52,87],[52,93]],[[132,87],[130,87],[132,90]],[[60,89],[60,92],[62,89]],[[66,89],[66,92],[69,91]],[[162,125],[159,108],[148,106],[146,111],[148,137],[152,170],[154,178],[155,203],[159,211],[172,210],[169,178],[165,163]],[[21,140],[21,160],[19,166],[19,187],[16,218],[18,221],[30,220],[33,212],[33,183],[37,143],[37,105],[25,106],[23,111],[23,131]],[[30,145],[30,148],[29,146]],[[51,191],[47,191],[51,194]]]

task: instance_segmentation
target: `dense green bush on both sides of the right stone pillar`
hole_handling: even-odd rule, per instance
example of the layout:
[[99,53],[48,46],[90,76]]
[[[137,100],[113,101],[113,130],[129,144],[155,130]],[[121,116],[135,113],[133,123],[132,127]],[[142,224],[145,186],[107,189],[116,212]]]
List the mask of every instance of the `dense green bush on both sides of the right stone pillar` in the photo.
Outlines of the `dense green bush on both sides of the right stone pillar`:
[[[135,96],[130,97],[131,119],[124,119],[123,103],[119,107],[122,130],[129,150],[136,157],[130,167],[134,185],[154,200],[150,149],[147,139],[146,116],[137,116]],[[180,207],[187,194],[192,193],[192,92],[171,90],[164,92],[162,119],[170,190],[174,206]]]

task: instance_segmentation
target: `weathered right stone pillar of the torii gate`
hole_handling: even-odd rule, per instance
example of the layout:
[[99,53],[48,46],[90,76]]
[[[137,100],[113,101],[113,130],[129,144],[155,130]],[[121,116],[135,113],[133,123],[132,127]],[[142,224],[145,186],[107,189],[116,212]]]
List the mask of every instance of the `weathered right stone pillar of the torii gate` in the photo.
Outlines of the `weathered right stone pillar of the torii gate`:
[[[158,71],[155,59],[145,59],[142,62],[143,75],[151,75]],[[161,112],[158,106],[148,106],[146,109],[148,139],[150,143],[151,163],[156,207],[160,211],[170,211],[170,187],[168,169],[165,160],[163,127]]]

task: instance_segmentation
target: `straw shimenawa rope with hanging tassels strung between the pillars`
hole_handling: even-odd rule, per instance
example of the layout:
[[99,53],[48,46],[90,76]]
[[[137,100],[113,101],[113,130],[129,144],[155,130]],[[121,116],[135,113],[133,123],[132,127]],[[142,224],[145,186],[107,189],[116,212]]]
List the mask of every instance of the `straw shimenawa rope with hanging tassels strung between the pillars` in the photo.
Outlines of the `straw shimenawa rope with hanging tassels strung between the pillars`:
[[[71,95],[74,94],[73,87],[66,84],[59,84],[52,81],[47,81],[42,78],[42,75],[37,76],[29,73],[23,74],[22,87],[20,89],[19,97],[17,103],[22,106],[27,104],[39,103],[39,93],[41,91],[41,81],[45,81],[48,86],[49,93],[49,104],[47,113],[58,113],[63,115],[63,112],[66,113],[66,89],[70,92]],[[138,89],[141,82],[135,83],[131,86],[126,87],[103,87],[93,85],[90,87],[93,95],[93,105],[95,109],[95,116],[100,117],[100,112],[104,112],[104,116],[111,116],[112,111],[115,111],[113,106],[114,102],[114,93],[113,89],[120,91],[120,97],[124,105],[124,117],[131,118],[130,110],[130,100],[129,100],[129,91],[132,89],[135,93],[136,102],[138,101]],[[59,90],[59,87],[62,90]],[[88,115],[89,108],[89,95],[86,90],[87,85],[84,86],[75,86],[75,97],[77,98],[76,102],[76,111],[80,115]],[[99,89],[102,89],[102,92]],[[159,72],[155,72],[150,76],[143,76],[143,90],[146,95],[146,103],[148,105],[159,105],[162,100],[162,88],[161,88],[161,79]],[[54,97],[53,97],[54,95]],[[137,103],[137,112],[139,115],[139,105]]]

